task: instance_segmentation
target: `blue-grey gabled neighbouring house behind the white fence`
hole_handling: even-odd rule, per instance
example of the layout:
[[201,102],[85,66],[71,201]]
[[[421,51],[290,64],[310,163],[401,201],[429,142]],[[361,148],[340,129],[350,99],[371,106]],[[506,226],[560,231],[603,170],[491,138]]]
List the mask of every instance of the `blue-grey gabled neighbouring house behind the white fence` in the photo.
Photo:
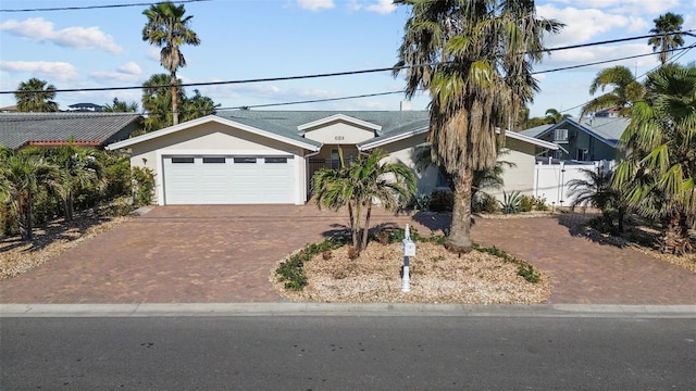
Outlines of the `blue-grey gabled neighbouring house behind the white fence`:
[[618,161],[622,156],[618,151],[619,139],[626,126],[625,117],[586,117],[580,122],[566,118],[520,134],[558,144],[559,149],[554,152],[537,150],[538,156],[580,162]]

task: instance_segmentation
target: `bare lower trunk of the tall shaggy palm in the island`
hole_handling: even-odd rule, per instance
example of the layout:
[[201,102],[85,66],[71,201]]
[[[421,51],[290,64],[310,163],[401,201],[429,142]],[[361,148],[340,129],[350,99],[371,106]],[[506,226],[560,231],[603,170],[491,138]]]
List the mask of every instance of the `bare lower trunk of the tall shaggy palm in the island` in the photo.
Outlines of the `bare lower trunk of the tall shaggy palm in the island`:
[[473,171],[465,167],[455,181],[452,225],[445,247],[453,253],[470,252],[471,247],[471,184]]

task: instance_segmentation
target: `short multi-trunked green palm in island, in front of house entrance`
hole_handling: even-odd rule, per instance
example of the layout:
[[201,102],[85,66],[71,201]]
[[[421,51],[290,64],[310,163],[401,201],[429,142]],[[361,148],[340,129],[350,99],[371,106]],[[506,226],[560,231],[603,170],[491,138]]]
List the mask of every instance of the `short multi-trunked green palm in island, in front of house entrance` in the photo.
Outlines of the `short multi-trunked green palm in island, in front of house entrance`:
[[368,156],[359,155],[347,167],[322,168],[312,178],[319,207],[338,211],[348,206],[350,234],[358,254],[368,247],[373,201],[378,200],[382,206],[393,211],[415,193],[413,172],[401,163],[382,162],[387,156],[375,150]]

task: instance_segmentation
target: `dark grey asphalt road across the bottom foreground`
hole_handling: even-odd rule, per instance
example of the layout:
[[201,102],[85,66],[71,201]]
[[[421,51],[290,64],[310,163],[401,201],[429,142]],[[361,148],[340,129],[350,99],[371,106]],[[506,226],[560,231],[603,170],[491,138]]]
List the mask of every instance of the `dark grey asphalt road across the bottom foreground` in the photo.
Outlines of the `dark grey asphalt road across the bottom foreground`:
[[0,318],[2,390],[695,390],[692,319]]

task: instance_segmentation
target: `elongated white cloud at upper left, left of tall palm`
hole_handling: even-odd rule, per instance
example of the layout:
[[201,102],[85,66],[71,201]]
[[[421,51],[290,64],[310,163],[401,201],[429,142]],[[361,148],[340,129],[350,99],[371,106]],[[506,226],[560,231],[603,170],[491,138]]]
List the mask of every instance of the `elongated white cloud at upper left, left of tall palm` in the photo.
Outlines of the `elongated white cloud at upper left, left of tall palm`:
[[104,50],[114,54],[123,52],[123,48],[113,41],[113,37],[101,31],[99,27],[67,27],[61,30],[53,27],[52,22],[42,17],[30,17],[23,22],[10,20],[0,24],[0,29],[37,42],[52,42],[82,50]]

